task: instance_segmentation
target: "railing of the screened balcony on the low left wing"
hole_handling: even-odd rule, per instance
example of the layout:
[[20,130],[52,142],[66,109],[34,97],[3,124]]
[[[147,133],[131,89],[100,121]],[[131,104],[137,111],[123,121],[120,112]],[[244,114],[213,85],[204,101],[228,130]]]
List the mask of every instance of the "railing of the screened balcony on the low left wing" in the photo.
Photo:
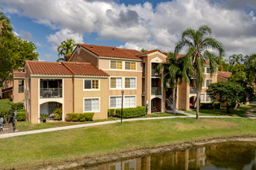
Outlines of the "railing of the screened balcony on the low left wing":
[[62,88],[40,88],[40,98],[61,98]]

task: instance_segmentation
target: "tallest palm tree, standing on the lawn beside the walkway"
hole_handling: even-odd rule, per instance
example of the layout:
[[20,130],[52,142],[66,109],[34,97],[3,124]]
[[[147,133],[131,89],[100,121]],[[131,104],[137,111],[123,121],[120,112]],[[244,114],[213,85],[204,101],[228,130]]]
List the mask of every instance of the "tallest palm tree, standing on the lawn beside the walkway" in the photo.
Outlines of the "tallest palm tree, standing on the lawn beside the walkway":
[[213,75],[216,67],[216,56],[208,49],[216,49],[220,56],[223,56],[223,45],[211,37],[212,29],[209,26],[200,26],[198,30],[186,29],[182,32],[180,39],[175,46],[175,53],[187,48],[186,55],[192,62],[192,76],[196,87],[196,119],[199,119],[199,90],[202,88],[204,64],[209,60],[210,74]]

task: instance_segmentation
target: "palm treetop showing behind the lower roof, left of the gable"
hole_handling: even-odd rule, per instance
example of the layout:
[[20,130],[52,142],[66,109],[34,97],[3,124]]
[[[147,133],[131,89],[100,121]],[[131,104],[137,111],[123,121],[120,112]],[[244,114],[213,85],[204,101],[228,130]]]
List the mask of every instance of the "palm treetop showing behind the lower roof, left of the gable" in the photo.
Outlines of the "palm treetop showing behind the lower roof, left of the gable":
[[74,39],[67,39],[61,42],[61,46],[57,47],[58,56],[64,56],[63,58],[57,59],[57,62],[59,61],[67,61],[69,57],[71,56],[71,53],[74,49],[74,46],[77,46],[78,44],[74,43]]

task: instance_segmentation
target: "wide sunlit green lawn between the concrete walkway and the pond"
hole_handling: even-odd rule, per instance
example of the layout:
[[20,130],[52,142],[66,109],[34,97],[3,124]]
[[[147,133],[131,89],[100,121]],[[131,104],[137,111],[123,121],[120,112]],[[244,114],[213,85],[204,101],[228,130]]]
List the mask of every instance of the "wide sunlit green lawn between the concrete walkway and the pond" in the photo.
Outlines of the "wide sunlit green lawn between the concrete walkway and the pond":
[[256,136],[256,120],[177,118],[123,122],[0,139],[0,167],[62,162],[206,138]]

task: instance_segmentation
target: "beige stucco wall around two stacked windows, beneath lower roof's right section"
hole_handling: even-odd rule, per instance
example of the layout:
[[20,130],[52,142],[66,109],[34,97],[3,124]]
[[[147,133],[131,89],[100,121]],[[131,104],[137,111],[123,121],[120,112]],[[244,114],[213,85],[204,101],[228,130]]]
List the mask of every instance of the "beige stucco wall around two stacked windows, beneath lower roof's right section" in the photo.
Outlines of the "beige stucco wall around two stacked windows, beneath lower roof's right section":
[[[95,77],[86,78],[88,80],[98,79]],[[98,98],[99,97],[99,112],[95,112],[93,117],[96,119],[106,119],[108,117],[109,109],[109,83],[108,78],[101,78],[100,90],[84,90],[84,78],[74,79],[74,113],[84,112],[84,98]]]

